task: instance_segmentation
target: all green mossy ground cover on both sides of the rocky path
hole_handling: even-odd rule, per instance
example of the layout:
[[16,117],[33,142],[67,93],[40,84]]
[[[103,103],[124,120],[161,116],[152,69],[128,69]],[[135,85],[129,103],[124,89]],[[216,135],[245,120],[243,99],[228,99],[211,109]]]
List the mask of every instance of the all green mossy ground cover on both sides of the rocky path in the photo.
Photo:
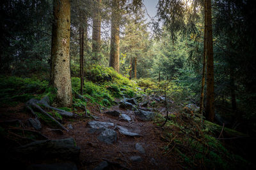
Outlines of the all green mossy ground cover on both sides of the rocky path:
[[[157,83],[150,79],[129,80],[108,67],[92,66],[90,69],[86,69],[85,75],[82,98],[77,99],[75,95],[79,94],[80,78],[72,77],[73,106],[72,108],[60,108],[61,110],[83,115],[84,111],[81,110],[87,108],[88,105],[109,108],[115,105],[116,98],[139,96],[138,98],[142,100],[141,94],[163,96],[165,86],[168,89],[166,92],[168,99],[175,103],[172,108],[179,109],[170,115],[170,120],[163,127],[161,139],[166,141],[166,145],[163,147],[164,155],[177,157],[177,161],[181,162],[184,169],[237,169],[237,167],[250,166],[249,162],[230,152],[221,141],[216,139],[214,136],[216,134],[212,132],[212,129],[216,129],[215,124],[202,123],[200,118],[195,117],[196,114],[191,115],[182,111],[182,104],[184,106],[188,103],[184,97],[189,93],[188,90],[181,89],[173,82]],[[25,103],[32,97],[41,99],[44,96],[49,96],[51,102],[54,100],[55,90],[48,87],[47,81],[35,78],[1,76],[0,89],[2,106]],[[156,109],[158,106],[156,101],[151,101],[149,105]],[[56,111],[47,111],[52,117],[58,120],[63,119]],[[90,113],[90,110],[87,110],[87,113]],[[36,114],[45,124],[54,126],[48,117],[38,112]],[[165,118],[159,112],[154,124],[160,126],[164,120]]]

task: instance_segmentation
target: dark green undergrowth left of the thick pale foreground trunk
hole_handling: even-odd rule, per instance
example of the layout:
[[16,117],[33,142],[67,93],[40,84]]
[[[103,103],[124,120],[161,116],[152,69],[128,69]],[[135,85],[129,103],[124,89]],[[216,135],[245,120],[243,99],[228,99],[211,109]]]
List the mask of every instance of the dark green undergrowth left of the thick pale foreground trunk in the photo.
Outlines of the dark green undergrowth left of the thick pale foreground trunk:
[[0,103],[11,104],[15,101],[22,103],[42,94],[48,85],[47,81],[19,78],[15,76],[0,77]]

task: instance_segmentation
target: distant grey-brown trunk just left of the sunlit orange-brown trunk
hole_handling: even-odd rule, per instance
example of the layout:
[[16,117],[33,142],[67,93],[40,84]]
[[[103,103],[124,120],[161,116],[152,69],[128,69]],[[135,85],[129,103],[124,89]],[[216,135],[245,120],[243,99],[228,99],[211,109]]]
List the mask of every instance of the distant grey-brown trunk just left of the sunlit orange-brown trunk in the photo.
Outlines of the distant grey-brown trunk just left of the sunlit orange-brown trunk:
[[93,52],[93,61],[99,61],[99,52],[100,52],[100,4],[102,0],[97,1],[94,13],[93,13],[93,30],[92,30],[92,52]]

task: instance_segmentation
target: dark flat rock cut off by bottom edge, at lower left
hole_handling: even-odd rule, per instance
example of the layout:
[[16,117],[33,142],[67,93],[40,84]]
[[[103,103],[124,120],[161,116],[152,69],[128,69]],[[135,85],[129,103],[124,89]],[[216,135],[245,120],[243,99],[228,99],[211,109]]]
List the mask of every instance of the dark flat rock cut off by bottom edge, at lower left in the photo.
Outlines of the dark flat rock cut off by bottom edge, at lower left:
[[57,163],[57,164],[33,164],[27,167],[27,170],[77,170],[74,163]]

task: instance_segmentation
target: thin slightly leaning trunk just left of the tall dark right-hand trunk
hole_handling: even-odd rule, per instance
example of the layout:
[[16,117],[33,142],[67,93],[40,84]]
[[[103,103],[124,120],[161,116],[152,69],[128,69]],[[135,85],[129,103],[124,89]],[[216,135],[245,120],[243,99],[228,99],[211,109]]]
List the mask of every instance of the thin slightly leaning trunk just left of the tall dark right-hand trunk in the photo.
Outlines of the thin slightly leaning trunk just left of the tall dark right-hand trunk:
[[205,15],[204,15],[204,59],[203,59],[203,71],[202,71],[202,84],[201,84],[201,96],[200,96],[200,109],[199,109],[199,113],[200,115],[203,115],[203,110],[204,110],[204,85],[205,85],[205,66],[206,66],[206,6],[204,7],[205,10]]

